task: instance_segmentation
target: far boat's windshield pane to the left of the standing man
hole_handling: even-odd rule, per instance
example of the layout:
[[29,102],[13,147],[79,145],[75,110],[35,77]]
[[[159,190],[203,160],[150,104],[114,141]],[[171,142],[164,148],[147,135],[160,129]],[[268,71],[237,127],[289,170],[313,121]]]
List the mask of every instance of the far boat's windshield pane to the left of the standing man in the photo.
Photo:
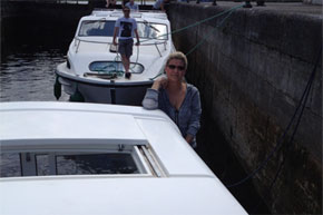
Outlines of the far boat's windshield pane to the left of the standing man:
[[86,20],[81,22],[79,37],[112,37],[115,21]]

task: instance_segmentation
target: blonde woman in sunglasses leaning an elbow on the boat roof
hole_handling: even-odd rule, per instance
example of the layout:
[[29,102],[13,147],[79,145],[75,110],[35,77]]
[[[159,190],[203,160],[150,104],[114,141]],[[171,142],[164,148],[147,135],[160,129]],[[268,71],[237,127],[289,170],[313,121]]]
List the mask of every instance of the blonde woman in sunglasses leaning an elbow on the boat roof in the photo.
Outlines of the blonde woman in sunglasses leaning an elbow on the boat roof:
[[166,77],[155,80],[147,89],[143,106],[166,113],[195,148],[195,136],[200,127],[200,98],[198,89],[185,81],[186,69],[186,56],[183,52],[170,53],[165,66]]

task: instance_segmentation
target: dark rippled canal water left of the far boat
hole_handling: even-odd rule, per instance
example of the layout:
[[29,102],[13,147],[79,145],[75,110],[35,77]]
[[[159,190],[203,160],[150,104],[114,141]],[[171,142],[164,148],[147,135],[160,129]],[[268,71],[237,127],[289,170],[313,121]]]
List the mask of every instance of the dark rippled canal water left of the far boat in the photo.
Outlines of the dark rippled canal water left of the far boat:
[[[30,26],[30,22],[21,25]],[[1,42],[0,101],[53,101],[55,69],[65,61],[71,38],[56,37],[58,27],[55,26],[51,31],[56,33],[49,33],[48,28],[37,30],[42,29],[41,23],[33,22],[31,29],[17,26],[19,23],[12,22],[11,26],[28,33],[13,31]],[[67,95],[61,98],[67,99]]]

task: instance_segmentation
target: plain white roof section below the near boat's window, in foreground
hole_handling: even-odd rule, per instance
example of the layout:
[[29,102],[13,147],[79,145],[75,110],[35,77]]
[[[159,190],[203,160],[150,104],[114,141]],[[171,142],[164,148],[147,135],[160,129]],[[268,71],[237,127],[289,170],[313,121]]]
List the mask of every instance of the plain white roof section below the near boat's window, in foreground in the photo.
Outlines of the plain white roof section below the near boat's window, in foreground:
[[[246,214],[214,178],[74,177],[0,183],[1,214]],[[14,205],[14,206],[13,206]]]

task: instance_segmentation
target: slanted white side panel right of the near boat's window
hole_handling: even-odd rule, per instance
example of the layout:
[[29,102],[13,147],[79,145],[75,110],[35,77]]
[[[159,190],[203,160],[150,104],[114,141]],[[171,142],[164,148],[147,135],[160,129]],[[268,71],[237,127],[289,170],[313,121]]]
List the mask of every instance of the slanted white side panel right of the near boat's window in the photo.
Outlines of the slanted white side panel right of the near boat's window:
[[170,176],[204,175],[215,177],[193,148],[185,141],[179,130],[172,129],[172,123],[156,123],[156,120],[148,119],[137,119],[137,121]]

